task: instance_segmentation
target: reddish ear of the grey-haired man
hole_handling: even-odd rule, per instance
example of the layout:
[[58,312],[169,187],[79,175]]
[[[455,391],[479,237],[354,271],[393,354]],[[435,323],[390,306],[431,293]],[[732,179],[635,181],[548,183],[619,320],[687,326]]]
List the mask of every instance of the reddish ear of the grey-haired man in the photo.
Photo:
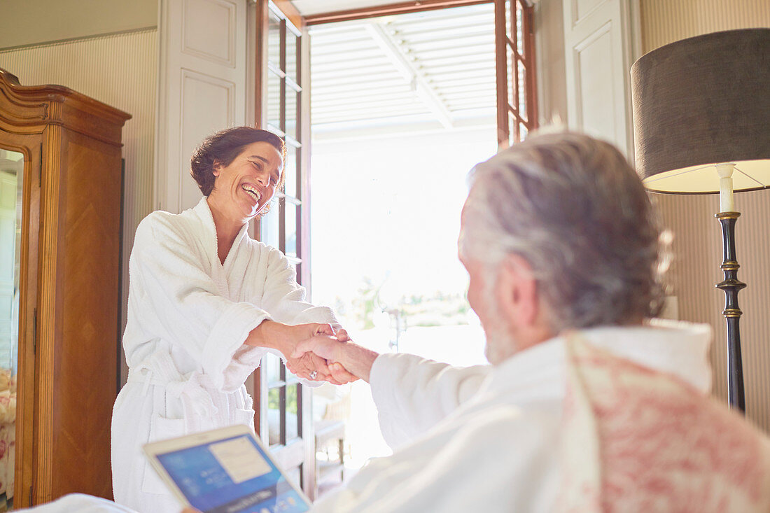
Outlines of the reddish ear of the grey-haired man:
[[500,313],[508,319],[516,319],[522,326],[531,327],[537,322],[540,307],[537,280],[532,266],[524,258],[509,254],[500,263],[497,276],[497,303]]

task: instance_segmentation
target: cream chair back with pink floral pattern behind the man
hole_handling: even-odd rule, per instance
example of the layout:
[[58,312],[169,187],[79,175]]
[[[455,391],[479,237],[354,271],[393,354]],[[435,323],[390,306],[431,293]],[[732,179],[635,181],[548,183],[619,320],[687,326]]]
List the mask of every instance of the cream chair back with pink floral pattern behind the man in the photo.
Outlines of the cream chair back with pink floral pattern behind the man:
[[560,511],[770,511],[770,442],[671,374],[566,337]]

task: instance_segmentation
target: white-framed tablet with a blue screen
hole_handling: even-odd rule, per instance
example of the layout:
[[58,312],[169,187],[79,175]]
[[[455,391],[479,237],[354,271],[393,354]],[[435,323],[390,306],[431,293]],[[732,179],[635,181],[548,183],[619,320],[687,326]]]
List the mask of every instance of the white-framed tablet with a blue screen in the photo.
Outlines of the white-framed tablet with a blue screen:
[[246,425],[152,442],[144,451],[182,505],[203,513],[310,510],[310,499]]

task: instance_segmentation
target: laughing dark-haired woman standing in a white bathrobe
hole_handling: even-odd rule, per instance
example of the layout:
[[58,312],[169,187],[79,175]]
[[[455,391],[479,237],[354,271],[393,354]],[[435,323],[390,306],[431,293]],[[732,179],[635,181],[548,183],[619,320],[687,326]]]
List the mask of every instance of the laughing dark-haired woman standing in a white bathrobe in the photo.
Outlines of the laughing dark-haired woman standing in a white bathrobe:
[[[179,509],[142,444],[229,424],[253,427],[243,383],[267,351],[303,378],[354,379],[315,355],[286,358],[301,340],[334,335],[336,320],[303,300],[283,253],[246,234],[283,184],[284,155],[271,132],[217,132],[192,156],[204,195],[198,205],[179,215],[153,212],[136,229],[123,335],[129,380],[112,413],[119,504],[142,513]],[[346,340],[344,330],[336,335]]]

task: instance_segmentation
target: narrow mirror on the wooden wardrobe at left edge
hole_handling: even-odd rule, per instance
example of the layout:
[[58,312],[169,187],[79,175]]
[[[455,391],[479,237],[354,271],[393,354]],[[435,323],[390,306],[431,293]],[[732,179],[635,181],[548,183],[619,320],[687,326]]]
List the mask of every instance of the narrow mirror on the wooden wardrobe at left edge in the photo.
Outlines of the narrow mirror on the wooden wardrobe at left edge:
[[22,153],[0,149],[0,511],[13,507]]

